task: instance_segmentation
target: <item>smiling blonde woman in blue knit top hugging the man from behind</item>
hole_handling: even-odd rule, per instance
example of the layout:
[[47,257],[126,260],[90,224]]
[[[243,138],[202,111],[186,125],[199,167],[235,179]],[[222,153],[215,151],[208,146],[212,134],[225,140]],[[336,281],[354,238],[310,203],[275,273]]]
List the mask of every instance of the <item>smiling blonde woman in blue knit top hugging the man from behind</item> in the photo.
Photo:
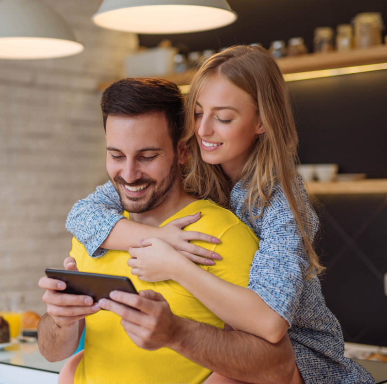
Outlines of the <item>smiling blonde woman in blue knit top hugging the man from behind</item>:
[[[194,263],[213,263],[193,255],[210,256],[192,248],[178,229],[197,218],[180,219],[175,228],[159,232],[144,226],[133,231],[136,223],[120,220],[122,208],[109,183],[76,204],[67,228],[93,256],[103,255],[101,243],[103,248],[132,247],[133,274],[146,281],[177,281],[234,329],[271,343],[288,333],[299,382],[374,383],[343,356],[339,322],[324,302],[317,277],[323,267],[313,249],[319,223],[296,173],[297,133],[286,84],[272,56],[246,46],[212,56],[194,77],[185,114],[183,140],[190,153],[185,190],[232,209],[260,240],[248,288]],[[101,221],[108,225],[95,236]]]

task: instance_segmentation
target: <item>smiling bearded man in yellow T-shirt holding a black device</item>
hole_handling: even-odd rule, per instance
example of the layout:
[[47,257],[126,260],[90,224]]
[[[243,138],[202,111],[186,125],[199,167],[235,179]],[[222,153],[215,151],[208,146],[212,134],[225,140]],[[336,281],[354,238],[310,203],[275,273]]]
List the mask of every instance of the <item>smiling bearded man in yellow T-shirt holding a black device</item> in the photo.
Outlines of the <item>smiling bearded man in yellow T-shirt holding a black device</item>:
[[[253,232],[231,212],[181,187],[180,166],[187,158],[179,142],[182,105],[176,85],[165,80],[124,79],[110,86],[101,101],[108,175],[130,221],[159,226],[201,210],[203,217],[188,229],[218,236],[221,243],[208,247],[223,256],[216,265],[201,267],[247,287],[258,248]],[[75,383],[201,383],[211,371],[218,379],[290,382],[295,363],[288,336],[273,345],[225,331],[224,322],[176,282],[148,283],[132,275],[127,252],[91,258],[74,238],[70,256],[80,271],[126,275],[140,290],[114,292],[112,300],[93,304],[90,297],[56,292],[65,288],[63,282],[40,280],[48,313],[39,323],[38,340],[48,360],[74,353],[86,323]],[[215,374],[209,380],[214,379]]]

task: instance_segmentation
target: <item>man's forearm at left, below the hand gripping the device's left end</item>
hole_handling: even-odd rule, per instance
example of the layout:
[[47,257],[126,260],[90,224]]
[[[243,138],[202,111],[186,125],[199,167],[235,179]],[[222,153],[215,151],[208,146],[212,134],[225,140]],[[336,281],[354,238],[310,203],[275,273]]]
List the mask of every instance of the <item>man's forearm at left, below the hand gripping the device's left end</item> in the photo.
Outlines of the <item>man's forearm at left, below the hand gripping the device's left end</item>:
[[70,327],[59,327],[46,313],[38,324],[40,353],[50,362],[70,357],[78,348],[83,326],[84,319],[76,321]]

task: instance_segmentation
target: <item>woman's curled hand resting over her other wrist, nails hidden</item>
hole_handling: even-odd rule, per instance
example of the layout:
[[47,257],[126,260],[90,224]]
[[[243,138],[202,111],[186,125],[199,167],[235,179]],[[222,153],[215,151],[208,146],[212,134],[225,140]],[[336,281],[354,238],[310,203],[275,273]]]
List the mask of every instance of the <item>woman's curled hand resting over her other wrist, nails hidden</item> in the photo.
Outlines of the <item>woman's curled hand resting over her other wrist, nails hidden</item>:
[[[143,281],[177,279],[177,273],[190,261],[166,241],[153,238],[141,240],[143,248],[129,248],[128,265],[132,274]],[[212,260],[209,260],[213,264]]]

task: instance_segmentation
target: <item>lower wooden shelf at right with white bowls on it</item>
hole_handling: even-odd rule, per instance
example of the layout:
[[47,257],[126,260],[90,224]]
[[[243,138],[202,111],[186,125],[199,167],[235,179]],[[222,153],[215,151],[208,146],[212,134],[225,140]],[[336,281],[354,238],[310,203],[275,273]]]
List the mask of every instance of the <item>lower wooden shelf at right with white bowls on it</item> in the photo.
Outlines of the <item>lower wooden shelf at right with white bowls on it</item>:
[[356,181],[311,181],[306,184],[309,194],[366,194],[386,193],[387,179],[365,179]]

